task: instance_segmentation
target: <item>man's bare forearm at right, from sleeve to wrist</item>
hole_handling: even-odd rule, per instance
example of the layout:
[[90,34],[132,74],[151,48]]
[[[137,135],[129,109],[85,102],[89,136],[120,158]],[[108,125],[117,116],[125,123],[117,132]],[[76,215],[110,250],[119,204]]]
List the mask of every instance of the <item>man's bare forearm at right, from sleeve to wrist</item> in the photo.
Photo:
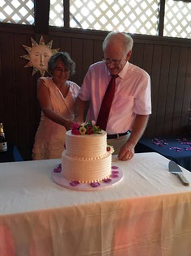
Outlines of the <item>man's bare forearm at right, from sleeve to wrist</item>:
[[137,144],[147,127],[148,120],[149,115],[136,115],[131,135],[127,141],[128,144],[132,144],[134,146]]

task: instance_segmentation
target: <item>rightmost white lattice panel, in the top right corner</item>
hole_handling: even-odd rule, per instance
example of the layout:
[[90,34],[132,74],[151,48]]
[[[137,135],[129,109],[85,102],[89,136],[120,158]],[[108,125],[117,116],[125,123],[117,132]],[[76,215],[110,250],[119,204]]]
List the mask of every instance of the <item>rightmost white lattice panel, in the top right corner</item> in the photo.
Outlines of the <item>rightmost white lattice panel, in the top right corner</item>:
[[163,35],[191,38],[191,2],[166,0]]

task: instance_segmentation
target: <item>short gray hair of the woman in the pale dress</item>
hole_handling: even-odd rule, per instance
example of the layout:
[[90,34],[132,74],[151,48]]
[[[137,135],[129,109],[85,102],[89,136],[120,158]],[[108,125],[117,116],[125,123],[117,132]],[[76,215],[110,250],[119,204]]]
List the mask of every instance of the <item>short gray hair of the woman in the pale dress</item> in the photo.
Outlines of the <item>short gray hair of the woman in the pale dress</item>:
[[57,65],[57,61],[60,59],[64,66],[70,70],[70,76],[75,73],[75,62],[70,58],[67,52],[57,52],[52,55],[48,61],[48,72],[52,75]]

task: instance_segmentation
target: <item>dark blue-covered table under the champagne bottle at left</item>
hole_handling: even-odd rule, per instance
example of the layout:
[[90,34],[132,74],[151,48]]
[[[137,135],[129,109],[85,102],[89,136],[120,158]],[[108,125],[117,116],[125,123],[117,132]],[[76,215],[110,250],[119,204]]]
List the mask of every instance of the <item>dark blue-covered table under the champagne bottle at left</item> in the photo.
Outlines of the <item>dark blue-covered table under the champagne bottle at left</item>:
[[8,143],[7,151],[0,152],[0,163],[14,161],[23,161],[23,158],[19,153],[18,148],[15,145]]

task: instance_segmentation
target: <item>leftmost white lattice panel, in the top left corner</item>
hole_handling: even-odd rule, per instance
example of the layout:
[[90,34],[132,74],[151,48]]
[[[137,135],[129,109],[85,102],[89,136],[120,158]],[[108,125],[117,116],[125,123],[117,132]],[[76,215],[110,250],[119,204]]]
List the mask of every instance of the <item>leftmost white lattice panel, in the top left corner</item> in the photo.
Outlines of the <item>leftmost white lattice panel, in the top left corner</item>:
[[34,24],[34,0],[0,0],[0,21]]

